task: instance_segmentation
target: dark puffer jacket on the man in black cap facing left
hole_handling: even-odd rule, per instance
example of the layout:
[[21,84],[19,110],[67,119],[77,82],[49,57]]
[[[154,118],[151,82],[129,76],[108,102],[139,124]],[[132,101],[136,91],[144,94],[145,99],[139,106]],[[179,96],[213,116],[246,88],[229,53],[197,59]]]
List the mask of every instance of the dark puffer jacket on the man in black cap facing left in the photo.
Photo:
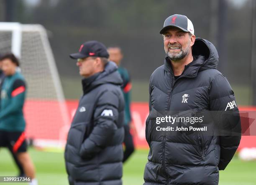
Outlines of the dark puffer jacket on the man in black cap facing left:
[[82,81],[65,149],[70,185],[121,185],[124,138],[122,79],[113,62]]

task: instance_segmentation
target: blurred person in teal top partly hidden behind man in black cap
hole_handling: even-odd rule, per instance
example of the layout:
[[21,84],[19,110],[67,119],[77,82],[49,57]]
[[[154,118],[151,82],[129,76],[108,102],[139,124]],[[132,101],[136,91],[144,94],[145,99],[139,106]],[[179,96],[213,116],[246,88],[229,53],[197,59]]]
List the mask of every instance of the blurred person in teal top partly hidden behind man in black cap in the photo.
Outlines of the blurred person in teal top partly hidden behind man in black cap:
[[134,152],[134,144],[133,144],[133,137],[130,133],[130,123],[131,123],[131,79],[129,76],[128,71],[120,67],[121,60],[123,59],[123,53],[121,51],[121,48],[119,47],[109,47],[108,48],[109,53],[109,59],[110,61],[115,62],[118,65],[118,72],[120,73],[123,84],[121,86],[123,91],[123,96],[125,100],[125,119],[124,119],[124,129],[125,129],[125,138],[124,138],[124,144],[125,144],[125,150],[123,154],[123,162],[125,162],[128,157],[131,156],[131,154]]

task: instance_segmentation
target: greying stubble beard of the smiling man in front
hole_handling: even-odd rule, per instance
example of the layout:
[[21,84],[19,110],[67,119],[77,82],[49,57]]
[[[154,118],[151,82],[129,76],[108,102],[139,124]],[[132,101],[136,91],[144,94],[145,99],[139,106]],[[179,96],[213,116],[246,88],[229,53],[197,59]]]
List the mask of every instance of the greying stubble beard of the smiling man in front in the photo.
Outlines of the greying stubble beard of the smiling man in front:
[[[169,52],[170,47],[179,47],[180,52],[179,53],[176,53],[176,52],[170,53]],[[179,60],[183,59],[185,56],[187,56],[189,54],[189,52],[190,52],[189,42],[188,42],[187,48],[185,48],[185,49],[183,49],[181,47],[181,45],[175,46],[175,45],[168,44],[168,48],[166,50],[166,54],[171,61],[179,61]]]

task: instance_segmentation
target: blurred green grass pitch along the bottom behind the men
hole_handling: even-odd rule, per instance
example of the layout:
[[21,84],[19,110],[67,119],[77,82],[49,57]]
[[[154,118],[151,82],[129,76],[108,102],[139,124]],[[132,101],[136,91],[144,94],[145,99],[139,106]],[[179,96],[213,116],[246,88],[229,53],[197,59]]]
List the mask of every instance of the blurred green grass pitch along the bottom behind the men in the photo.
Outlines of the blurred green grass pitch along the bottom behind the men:
[[[68,185],[62,151],[43,152],[29,149],[36,166],[39,185]],[[147,150],[136,150],[123,167],[123,185],[142,185],[143,171],[147,161]],[[17,169],[5,148],[0,149],[0,176],[17,175]],[[26,185],[26,183],[0,183],[7,185]],[[256,161],[244,162],[237,157],[230,162],[225,171],[220,172],[219,185],[256,185]]]

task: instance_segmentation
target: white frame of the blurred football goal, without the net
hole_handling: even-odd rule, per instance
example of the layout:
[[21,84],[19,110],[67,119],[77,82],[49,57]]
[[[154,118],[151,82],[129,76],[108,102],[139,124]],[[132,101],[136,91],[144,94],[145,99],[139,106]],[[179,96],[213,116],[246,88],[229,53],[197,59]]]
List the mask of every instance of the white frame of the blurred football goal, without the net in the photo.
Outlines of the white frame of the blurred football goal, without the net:
[[49,39],[46,33],[46,29],[39,24],[21,24],[21,23],[8,23],[8,22],[0,22],[0,31],[10,31],[12,34],[11,39],[11,52],[18,58],[21,57],[21,44],[22,44],[22,32],[23,31],[38,31],[41,37],[41,41],[43,43],[43,47],[46,52],[46,58],[49,65],[51,77],[53,78],[54,88],[56,90],[56,97],[59,102],[59,109],[61,110],[61,116],[64,120],[63,127],[59,129],[59,141],[57,140],[41,140],[35,139],[36,145],[44,145],[46,147],[56,146],[63,147],[66,143],[67,131],[69,129],[69,112],[67,109],[67,104],[64,98],[64,93],[61,86],[61,81],[59,77],[59,73],[56,67],[56,63],[54,60],[54,55],[51,51],[51,46],[49,43]]

